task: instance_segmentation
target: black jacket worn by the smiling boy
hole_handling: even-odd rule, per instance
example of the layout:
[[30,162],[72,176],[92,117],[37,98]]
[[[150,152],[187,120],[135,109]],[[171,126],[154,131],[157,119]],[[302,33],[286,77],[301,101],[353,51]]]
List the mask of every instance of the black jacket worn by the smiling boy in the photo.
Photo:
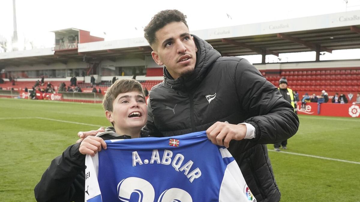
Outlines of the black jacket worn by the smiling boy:
[[[108,139],[130,139],[120,136],[113,127],[96,136]],[[149,137],[141,131],[141,137]],[[51,161],[50,166],[42,174],[34,192],[38,202],[84,202],[85,201],[85,156],[79,152],[80,142],[69,146],[61,156]]]

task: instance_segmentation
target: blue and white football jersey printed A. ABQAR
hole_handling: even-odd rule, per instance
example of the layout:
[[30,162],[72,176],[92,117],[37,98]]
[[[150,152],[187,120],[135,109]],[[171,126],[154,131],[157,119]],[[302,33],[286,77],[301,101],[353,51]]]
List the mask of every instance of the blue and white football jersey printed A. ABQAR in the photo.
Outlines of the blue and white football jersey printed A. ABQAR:
[[229,151],[205,131],[105,142],[86,155],[87,202],[256,202]]

